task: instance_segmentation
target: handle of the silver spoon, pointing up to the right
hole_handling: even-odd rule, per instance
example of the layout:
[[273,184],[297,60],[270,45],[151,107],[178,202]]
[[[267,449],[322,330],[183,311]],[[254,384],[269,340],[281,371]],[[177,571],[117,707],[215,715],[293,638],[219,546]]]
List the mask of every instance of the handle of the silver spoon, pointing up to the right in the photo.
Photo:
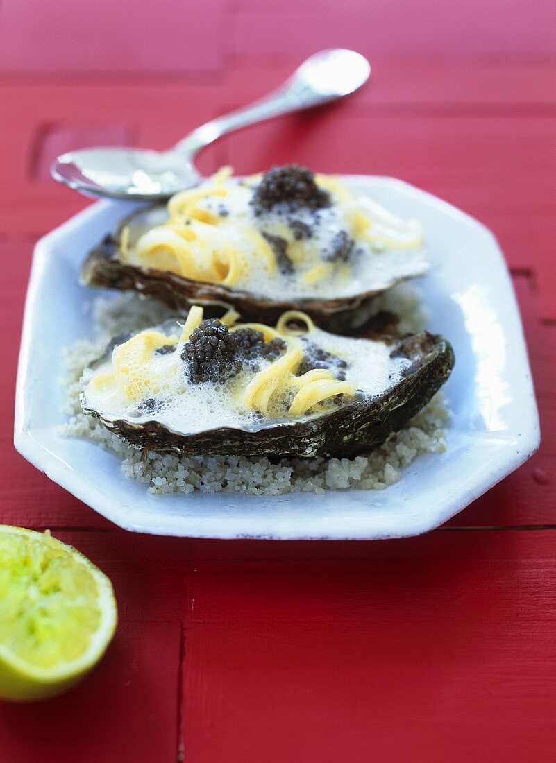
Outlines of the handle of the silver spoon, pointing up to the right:
[[[353,76],[351,78],[348,76],[351,81],[346,81],[344,86],[340,84],[338,87],[338,72],[335,72],[336,82],[330,86],[329,82],[332,78],[329,71],[330,64],[327,64],[327,60],[331,59],[331,54],[339,52],[349,52],[364,62],[361,67],[360,81],[353,82]],[[365,69],[365,66],[368,68]],[[224,114],[202,124],[201,127],[197,127],[187,137],[176,143],[172,151],[192,157],[199,150],[208,146],[209,143],[213,143],[222,135],[231,133],[233,130],[239,130],[241,127],[262,122],[280,116],[280,114],[290,114],[293,111],[301,111],[305,108],[312,108],[312,106],[343,98],[363,85],[369,73],[370,67],[367,61],[358,53],[335,50],[323,50],[320,53],[315,53],[305,60],[278,89],[244,108],[231,111],[229,114]]]

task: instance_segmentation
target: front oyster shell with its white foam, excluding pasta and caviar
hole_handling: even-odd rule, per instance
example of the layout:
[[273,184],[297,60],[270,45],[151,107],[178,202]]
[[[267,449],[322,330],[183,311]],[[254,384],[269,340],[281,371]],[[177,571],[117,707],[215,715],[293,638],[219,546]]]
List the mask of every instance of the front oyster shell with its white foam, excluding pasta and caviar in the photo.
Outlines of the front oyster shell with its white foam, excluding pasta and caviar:
[[[163,363],[173,363],[183,380],[185,345],[176,343],[180,330],[182,327],[173,321],[158,327],[157,341],[166,344],[154,352],[160,353],[156,361],[160,368]],[[354,393],[331,398],[300,415],[279,412],[270,417],[259,411],[242,412],[236,403],[218,407],[218,400],[223,398],[218,393],[215,404],[214,385],[208,381],[182,383],[186,397],[180,398],[178,407],[158,407],[156,395],[154,399],[147,390],[143,394],[146,399],[135,398],[130,408],[118,402],[119,391],[116,402],[95,391],[99,387],[95,379],[112,372],[113,348],[118,350],[118,344],[111,343],[108,353],[86,369],[82,410],[136,449],[189,456],[351,456],[380,446],[390,433],[404,427],[444,384],[454,365],[450,343],[429,333],[368,340],[335,336],[313,327],[303,336],[298,332],[292,336],[292,341],[301,342],[303,347],[312,346],[314,368],[323,368],[315,358],[325,359],[324,366],[333,369],[336,378],[344,377],[343,384],[351,386]],[[236,391],[248,384],[249,373],[247,378],[241,374],[235,377]],[[294,376],[293,381],[297,378]],[[203,394],[209,398],[208,404],[203,402]]]

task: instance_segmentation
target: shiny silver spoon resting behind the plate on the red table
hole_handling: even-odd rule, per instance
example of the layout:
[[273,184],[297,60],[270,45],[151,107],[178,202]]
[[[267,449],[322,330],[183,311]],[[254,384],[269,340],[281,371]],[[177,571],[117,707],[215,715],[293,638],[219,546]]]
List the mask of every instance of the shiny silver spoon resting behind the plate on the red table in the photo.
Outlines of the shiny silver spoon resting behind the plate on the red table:
[[266,98],[197,127],[168,151],[79,149],[58,156],[50,172],[58,182],[88,196],[168,198],[202,181],[193,159],[222,135],[280,114],[343,98],[364,85],[369,75],[369,62],[359,53],[321,50]]

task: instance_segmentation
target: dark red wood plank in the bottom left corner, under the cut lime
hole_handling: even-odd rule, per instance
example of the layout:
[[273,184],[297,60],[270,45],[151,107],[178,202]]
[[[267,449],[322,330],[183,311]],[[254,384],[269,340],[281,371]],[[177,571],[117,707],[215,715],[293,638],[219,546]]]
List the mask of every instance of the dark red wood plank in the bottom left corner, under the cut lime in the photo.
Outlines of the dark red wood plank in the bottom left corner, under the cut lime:
[[105,659],[69,694],[2,703],[2,761],[175,763],[179,648],[179,624],[121,622]]

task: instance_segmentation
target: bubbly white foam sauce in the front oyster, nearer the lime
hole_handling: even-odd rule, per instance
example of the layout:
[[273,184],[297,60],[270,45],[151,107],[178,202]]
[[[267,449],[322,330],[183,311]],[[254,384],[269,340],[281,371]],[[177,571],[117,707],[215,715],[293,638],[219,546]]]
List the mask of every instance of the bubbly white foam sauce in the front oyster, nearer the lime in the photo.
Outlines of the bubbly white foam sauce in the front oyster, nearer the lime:
[[[367,398],[377,397],[395,385],[401,378],[402,370],[409,365],[406,359],[390,358],[392,348],[380,342],[354,340],[321,330],[315,330],[307,336],[318,347],[348,362],[348,368],[344,369],[346,381],[352,382]],[[268,418],[261,418],[252,410],[241,410],[238,407],[241,392],[256,371],[244,368],[240,374],[219,387],[212,382],[191,384],[186,378],[184,362],[180,358],[182,348],[183,345],[177,346],[173,353],[155,353],[152,356],[149,375],[168,381],[166,391],[153,395],[160,402],[160,409],[155,413],[145,411],[137,414],[137,406],[141,401],[129,401],[119,388],[108,391],[90,388],[89,382],[96,374],[112,371],[112,359],[106,359],[94,371],[86,369],[82,379],[86,407],[98,411],[107,420],[126,419],[137,424],[157,420],[166,429],[190,434],[216,427],[258,429],[269,423]],[[261,359],[259,370],[267,365],[270,362]],[[347,400],[345,404],[348,403]]]

